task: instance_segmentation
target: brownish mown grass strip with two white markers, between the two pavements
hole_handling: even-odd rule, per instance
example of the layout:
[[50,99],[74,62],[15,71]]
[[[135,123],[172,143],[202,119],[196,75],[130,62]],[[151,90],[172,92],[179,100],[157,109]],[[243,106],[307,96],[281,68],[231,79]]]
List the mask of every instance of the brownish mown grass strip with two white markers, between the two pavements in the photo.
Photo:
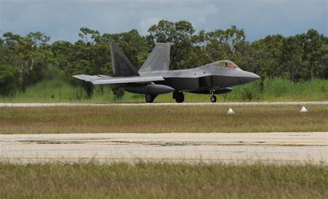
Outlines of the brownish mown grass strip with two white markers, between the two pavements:
[[1,107],[0,133],[328,131],[327,105]]

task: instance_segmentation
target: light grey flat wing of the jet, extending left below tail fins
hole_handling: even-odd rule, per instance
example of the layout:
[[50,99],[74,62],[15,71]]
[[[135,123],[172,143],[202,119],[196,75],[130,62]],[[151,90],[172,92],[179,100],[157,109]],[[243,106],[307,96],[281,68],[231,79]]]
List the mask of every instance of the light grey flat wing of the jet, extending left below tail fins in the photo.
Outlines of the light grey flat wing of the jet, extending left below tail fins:
[[126,84],[126,83],[142,83],[142,82],[154,82],[163,81],[163,77],[143,77],[143,76],[133,76],[133,77],[111,77],[107,75],[73,75],[73,77],[82,79],[86,82],[91,82],[92,84]]

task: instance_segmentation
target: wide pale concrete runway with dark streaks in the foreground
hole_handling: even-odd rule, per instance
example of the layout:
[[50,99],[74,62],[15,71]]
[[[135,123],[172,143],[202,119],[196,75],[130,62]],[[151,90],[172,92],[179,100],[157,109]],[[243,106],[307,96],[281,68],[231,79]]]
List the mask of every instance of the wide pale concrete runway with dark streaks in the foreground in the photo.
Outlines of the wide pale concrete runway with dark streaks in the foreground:
[[328,133],[86,133],[0,135],[0,160],[328,164]]

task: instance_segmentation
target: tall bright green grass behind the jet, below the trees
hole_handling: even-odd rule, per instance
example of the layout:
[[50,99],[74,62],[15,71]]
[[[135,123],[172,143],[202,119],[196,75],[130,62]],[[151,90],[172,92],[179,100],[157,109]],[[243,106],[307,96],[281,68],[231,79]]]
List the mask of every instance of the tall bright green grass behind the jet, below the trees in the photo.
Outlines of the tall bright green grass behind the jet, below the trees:
[[[114,99],[111,86],[95,86],[91,99],[86,97],[81,87],[73,87],[60,79],[44,80],[29,88],[25,93],[12,97],[0,97],[0,102],[145,102],[144,95],[125,92],[122,99]],[[328,80],[315,79],[313,90],[310,82],[293,83],[286,79],[265,79],[264,82],[253,82],[233,87],[228,93],[226,102],[248,102],[246,94],[251,93],[251,101],[324,101],[328,100]],[[77,96],[81,98],[78,99]],[[248,96],[250,96],[248,95]],[[223,102],[223,95],[218,95]],[[175,102],[172,93],[159,95],[155,102]],[[185,93],[185,102],[210,102],[210,95]]]

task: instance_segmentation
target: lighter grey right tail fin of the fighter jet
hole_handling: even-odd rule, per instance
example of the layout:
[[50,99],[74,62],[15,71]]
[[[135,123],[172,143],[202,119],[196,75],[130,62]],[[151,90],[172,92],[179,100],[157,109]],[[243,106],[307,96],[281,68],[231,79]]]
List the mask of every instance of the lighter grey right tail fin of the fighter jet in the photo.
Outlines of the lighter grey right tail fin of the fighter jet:
[[139,72],[150,72],[158,70],[169,70],[170,66],[170,44],[156,44],[152,53],[141,66]]

